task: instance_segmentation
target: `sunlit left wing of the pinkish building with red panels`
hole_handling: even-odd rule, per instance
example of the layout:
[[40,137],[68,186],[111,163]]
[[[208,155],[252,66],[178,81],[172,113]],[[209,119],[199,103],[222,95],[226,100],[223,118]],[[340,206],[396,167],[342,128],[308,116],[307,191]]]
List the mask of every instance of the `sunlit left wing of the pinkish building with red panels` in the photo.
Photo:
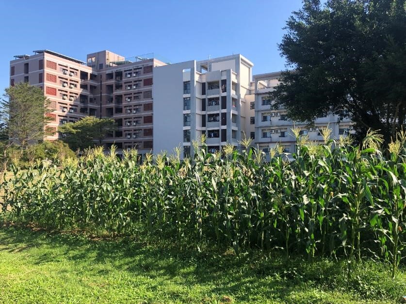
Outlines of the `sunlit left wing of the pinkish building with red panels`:
[[47,129],[55,132],[46,139],[55,140],[59,125],[75,122],[86,115],[97,115],[97,74],[80,60],[52,52],[37,50],[33,55],[18,55],[10,62],[10,85],[29,82],[40,87],[54,110]]

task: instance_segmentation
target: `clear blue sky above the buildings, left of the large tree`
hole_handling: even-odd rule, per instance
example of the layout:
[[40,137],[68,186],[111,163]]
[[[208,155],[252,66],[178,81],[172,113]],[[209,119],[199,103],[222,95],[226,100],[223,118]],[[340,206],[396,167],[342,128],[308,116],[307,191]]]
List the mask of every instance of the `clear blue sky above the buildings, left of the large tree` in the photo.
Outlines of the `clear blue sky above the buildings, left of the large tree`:
[[170,62],[241,53],[254,74],[284,68],[277,43],[301,0],[0,1],[0,91],[14,55],[50,49],[86,60],[108,49]]

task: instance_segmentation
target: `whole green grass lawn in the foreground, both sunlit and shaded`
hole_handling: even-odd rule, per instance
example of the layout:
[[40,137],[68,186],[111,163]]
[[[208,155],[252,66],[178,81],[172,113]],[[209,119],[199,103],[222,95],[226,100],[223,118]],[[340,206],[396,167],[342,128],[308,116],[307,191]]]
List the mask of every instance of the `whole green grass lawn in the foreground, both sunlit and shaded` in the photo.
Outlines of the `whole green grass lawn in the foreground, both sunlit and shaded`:
[[251,251],[179,250],[143,241],[0,228],[0,303],[396,303],[404,266],[285,261]]

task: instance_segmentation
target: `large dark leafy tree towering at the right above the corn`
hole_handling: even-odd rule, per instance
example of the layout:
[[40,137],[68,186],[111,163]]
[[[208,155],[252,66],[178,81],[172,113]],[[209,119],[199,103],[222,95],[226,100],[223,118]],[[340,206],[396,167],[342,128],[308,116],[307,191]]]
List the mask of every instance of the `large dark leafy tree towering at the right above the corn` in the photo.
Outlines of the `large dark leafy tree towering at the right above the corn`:
[[405,0],[304,0],[279,49],[287,67],[271,98],[293,120],[349,117],[386,143],[406,120]]

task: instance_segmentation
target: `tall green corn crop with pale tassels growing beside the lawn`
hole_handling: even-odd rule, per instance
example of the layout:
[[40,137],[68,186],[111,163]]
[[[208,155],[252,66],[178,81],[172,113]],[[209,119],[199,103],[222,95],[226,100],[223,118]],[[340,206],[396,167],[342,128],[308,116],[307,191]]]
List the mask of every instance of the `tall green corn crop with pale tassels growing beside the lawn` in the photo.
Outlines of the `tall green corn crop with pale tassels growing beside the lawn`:
[[255,148],[208,154],[202,140],[183,161],[179,148],[142,164],[136,150],[120,160],[114,149],[104,155],[95,148],[59,164],[11,165],[0,189],[3,218],[112,237],[143,231],[151,241],[208,241],[237,253],[272,249],[350,262],[373,256],[389,260],[394,276],[406,254],[406,134],[380,150],[376,132],[354,146],[324,131],[324,144],[316,145],[293,129],[292,162],[279,146],[268,162]]

